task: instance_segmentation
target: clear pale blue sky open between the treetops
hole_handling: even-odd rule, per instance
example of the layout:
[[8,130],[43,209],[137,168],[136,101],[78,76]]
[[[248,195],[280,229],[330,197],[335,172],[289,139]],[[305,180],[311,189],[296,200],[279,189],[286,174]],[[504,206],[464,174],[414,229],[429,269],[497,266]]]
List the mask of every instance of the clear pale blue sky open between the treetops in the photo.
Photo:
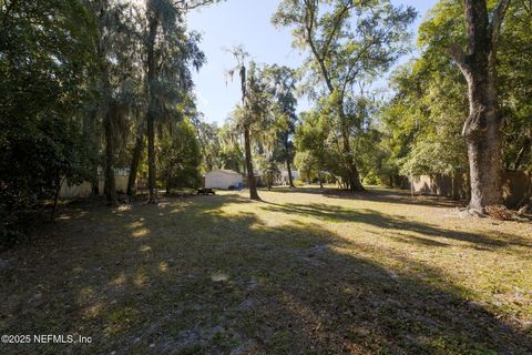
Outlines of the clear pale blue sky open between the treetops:
[[[188,28],[203,34],[202,50],[207,63],[194,74],[197,105],[208,122],[222,124],[241,100],[238,83],[228,81],[226,71],[235,65],[223,48],[244,44],[250,58],[258,63],[277,63],[297,68],[303,54],[291,48],[289,29],[276,29],[270,23],[279,0],[227,0],[191,12]],[[395,4],[412,6],[418,10],[416,30],[428,9],[437,0],[392,0]],[[308,106],[299,100],[298,109]]]

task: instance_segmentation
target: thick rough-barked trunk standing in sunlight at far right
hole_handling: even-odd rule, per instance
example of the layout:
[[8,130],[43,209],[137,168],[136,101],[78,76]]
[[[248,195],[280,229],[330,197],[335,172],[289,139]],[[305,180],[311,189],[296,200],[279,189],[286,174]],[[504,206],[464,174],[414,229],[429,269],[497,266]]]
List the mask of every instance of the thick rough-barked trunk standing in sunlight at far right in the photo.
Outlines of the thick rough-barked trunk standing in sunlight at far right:
[[[468,82],[469,116],[462,129],[471,181],[469,211],[502,203],[502,116],[497,91],[497,43],[509,0],[490,13],[485,0],[463,0],[468,49],[449,52]],[[491,18],[491,20],[490,20]]]

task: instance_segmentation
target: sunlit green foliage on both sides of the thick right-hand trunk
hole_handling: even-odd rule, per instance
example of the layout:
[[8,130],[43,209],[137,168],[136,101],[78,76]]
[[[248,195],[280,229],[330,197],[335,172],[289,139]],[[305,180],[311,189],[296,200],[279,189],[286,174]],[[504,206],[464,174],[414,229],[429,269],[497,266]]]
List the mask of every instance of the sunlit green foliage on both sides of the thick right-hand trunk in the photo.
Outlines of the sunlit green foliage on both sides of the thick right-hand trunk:
[[[513,1],[499,37],[497,70],[507,169],[531,166],[531,21],[530,3]],[[451,43],[466,43],[461,4],[440,1],[418,34],[421,54],[396,70],[390,81],[395,95],[381,112],[387,165],[396,165],[403,174],[468,172],[461,136],[468,89],[448,53]]]

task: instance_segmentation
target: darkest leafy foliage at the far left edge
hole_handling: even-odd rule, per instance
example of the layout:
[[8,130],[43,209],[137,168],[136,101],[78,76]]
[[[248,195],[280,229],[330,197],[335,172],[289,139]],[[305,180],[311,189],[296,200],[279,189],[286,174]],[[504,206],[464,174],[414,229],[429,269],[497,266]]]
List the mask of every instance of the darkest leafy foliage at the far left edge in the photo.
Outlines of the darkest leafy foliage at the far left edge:
[[0,3],[0,233],[17,213],[80,181],[94,152],[83,108],[94,23],[81,1]]

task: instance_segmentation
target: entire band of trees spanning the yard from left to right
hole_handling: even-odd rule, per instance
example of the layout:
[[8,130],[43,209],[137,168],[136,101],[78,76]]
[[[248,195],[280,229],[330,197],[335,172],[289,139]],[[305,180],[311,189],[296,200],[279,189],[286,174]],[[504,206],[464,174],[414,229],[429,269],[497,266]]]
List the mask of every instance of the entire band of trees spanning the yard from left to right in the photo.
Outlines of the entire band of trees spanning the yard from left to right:
[[[502,201],[502,171],[531,166],[532,7],[526,0],[441,0],[410,53],[411,7],[389,0],[283,0],[272,23],[293,31],[300,68],[257,64],[228,49],[242,100],[228,121],[206,123],[192,71],[207,60],[188,11],[215,0],[0,1],[0,215],[57,201],[61,185],[98,186],[119,203],[146,176],[149,202],[200,184],[214,168],[279,170],[349,191],[398,175],[468,173],[470,209]],[[296,114],[297,99],[313,103]],[[54,211],[52,212],[52,215]]]

